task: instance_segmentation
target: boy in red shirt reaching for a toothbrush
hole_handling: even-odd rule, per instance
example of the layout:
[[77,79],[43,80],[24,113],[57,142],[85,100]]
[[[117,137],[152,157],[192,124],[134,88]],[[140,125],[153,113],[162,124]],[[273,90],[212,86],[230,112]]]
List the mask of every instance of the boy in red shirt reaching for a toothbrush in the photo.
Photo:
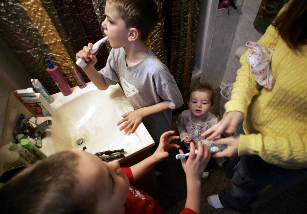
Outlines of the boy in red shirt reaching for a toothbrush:
[[[128,168],[85,151],[57,152],[27,167],[0,189],[1,209],[5,213],[165,213],[153,197],[131,185],[168,157],[170,148],[179,148],[170,143],[179,139],[169,137],[174,133],[163,133],[157,150]],[[196,156],[193,143],[188,160],[181,159],[187,179],[181,213],[201,213],[201,174],[209,159],[208,148],[199,144]]]

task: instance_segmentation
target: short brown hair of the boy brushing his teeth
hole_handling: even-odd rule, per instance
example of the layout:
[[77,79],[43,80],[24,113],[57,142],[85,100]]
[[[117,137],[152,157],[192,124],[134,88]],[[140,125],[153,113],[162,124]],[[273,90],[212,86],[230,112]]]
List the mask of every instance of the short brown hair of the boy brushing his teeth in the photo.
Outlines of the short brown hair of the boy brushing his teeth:
[[107,0],[115,4],[127,28],[137,28],[145,41],[158,22],[158,7],[154,0]]

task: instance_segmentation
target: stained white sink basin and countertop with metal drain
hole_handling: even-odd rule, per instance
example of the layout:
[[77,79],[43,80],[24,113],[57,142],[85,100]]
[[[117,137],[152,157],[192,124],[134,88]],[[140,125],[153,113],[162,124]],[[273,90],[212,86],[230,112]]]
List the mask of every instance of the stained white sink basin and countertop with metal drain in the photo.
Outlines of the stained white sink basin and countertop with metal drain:
[[[61,92],[52,95],[54,115],[37,118],[37,123],[52,120],[51,129],[42,135],[41,150],[47,156],[63,150],[82,150],[84,146],[93,154],[123,148],[125,158],[119,159],[121,162],[154,145],[143,123],[132,134],[119,131],[116,123],[121,115],[134,110],[119,84],[100,91],[89,82],[86,88],[74,87],[72,91],[69,96]],[[79,139],[84,140],[81,145],[76,143]]]

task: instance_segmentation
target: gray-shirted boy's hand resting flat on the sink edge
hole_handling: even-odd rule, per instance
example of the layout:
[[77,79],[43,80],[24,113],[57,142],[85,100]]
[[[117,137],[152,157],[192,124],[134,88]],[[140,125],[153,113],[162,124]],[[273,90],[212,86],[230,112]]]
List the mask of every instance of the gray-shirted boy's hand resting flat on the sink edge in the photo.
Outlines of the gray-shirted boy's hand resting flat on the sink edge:
[[124,130],[124,132],[126,132],[131,129],[130,132],[133,133],[144,118],[141,113],[142,110],[137,109],[123,114],[123,118],[117,123],[117,126],[119,126],[123,122],[125,123],[119,128],[119,130]]

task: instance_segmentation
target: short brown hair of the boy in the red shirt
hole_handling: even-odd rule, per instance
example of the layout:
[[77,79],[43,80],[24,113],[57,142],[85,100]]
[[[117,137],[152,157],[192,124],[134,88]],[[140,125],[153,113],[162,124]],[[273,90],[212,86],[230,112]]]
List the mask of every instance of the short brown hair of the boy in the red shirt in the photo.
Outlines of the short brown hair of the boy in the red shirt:
[[1,210],[5,213],[93,213],[96,198],[85,199],[77,186],[79,159],[77,153],[63,151],[25,168],[0,189]]

